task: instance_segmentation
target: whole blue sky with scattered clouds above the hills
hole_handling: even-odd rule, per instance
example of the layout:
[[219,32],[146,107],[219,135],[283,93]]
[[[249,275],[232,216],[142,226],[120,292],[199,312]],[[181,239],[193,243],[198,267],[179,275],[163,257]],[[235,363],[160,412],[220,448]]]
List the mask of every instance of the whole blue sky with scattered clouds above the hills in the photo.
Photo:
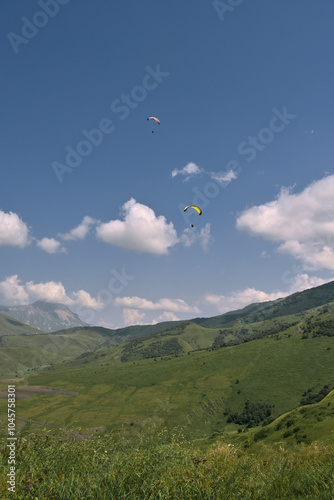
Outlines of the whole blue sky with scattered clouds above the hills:
[[329,0],[6,4],[0,303],[116,328],[334,279],[333,15]]

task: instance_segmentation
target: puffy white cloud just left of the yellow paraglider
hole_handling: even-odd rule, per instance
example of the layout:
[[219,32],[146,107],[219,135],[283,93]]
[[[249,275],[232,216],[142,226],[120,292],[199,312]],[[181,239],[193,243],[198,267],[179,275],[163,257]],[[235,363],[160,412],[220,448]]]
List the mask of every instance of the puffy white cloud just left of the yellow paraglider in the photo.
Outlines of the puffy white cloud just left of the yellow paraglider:
[[169,248],[178,243],[173,223],[167,223],[164,216],[156,216],[151,208],[135,199],[124,203],[122,215],[123,220],[100,223],[96,228],[97,237],[125,250],[157,255],[167,254]]

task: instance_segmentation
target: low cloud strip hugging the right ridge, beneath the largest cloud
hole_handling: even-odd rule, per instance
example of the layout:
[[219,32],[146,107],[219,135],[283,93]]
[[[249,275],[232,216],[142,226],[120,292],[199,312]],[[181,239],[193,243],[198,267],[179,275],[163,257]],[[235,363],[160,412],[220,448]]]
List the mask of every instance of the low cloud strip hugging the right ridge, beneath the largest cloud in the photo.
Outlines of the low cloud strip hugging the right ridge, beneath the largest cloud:
[[[287,277],[288,277],[287,273]],[[287,277],[285,279],[287,279]],[[233,311],[235,309],[242,309],[249,304],[267,302],[270,300],[276,300],[282,297],[286,297],[295,292],[300,292],[307,290],[308,288],[313,288],[315,286],[320,286],[331,280],[323,280],[316,276],[309,276],[306,273],[301,273],[298,275],[292,275],[290,281],[290,286],[288,290],[278,290],[274,292],[263,292],[262,290],[256,290],[255,288],[245,288],[244,290],[239,290],[232,292],[229,295],[215,295],[207,294],[204,298],[205,302],[209,305],[215,306],[219,313],[223,314],[228,311]]]

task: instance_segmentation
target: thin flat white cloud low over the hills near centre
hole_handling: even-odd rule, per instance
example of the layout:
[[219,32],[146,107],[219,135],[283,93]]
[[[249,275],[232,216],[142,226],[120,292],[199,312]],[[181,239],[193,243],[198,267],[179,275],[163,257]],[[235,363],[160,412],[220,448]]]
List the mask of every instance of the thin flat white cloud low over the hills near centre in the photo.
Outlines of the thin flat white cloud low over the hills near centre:
[[144,309],[147,311],[165,310],[169,312],[194,312],[199,313],[197,307],[189,306],[182,299],[160,299],[158,302],[152,302],[141,297],[116,297],[114,305],[127,307],[131,309]]

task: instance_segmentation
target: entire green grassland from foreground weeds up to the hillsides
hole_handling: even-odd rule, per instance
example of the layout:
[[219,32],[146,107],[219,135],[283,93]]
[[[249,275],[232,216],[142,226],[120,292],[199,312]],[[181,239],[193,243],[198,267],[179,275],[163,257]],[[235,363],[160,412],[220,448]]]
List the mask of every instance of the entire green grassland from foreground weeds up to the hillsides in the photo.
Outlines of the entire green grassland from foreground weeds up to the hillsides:
[[3,359],[59,348],[13,381],[15,496],[0,381],[1,498],[332,500],[332,304],[277,307],[118,343],[105,329],[4,336]]

